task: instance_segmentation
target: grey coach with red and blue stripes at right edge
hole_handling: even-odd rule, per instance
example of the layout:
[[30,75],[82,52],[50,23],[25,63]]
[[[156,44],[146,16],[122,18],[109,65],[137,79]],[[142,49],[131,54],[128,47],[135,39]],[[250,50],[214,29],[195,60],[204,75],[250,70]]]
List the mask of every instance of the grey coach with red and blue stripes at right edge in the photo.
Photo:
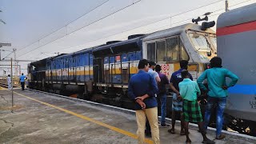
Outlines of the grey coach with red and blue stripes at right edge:
[[230,10],[218,17],[217,46],[222,66],[239,77],[230,87],[226,118],[233,117],[230,127],[256,136],[256,3]]

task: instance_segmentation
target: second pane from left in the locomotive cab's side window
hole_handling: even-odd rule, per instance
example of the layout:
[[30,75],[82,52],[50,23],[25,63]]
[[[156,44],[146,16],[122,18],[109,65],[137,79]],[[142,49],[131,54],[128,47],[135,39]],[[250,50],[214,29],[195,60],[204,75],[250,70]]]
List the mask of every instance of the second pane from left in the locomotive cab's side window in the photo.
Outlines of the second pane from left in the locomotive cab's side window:
[[157,62],[166,62],[166,41],[157,42]]

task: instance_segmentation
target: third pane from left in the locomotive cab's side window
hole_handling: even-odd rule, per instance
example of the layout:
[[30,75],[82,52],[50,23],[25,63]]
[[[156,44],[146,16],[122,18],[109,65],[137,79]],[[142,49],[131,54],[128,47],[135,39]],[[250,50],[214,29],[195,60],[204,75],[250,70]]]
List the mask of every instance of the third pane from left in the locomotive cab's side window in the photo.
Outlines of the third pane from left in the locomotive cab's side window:
[[166,39],[166,62],[178,61],[178,37]]

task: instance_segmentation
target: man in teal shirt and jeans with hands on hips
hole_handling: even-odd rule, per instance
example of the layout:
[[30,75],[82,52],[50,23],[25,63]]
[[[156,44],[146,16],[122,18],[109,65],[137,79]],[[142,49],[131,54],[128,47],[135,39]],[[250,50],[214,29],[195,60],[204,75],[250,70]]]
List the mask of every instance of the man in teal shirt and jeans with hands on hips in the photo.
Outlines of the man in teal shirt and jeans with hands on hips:
[[[211,110],[215,105],[217,105],[216,139],[222,139],[225,138],[225,135],[222,134],[222,122],[223,113],[226,106],[227,89],[230,86],[234,86],[238,82],[238,76],[230,72],[230,70],[222,68],[222,58],[211,58],[210,66],[212,68],[204,71],[198,78],[198,86],[202,90],[208,91],[204,128],[207,130]],[[231,82],[229,84],[226,84],[226,77],[231,78]],[[209,90],[202,84],[206,78]]]

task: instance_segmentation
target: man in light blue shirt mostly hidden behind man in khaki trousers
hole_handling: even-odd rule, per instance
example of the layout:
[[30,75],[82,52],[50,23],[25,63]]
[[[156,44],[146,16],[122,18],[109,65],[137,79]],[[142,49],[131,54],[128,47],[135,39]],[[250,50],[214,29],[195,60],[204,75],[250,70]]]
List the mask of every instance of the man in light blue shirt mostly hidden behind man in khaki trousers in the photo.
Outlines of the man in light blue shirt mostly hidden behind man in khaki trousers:
[[[150,65],[150,69],[149,69],[148,73],[151,75],[152,78],[155,79],[155,81],[158,84],[159,82],[161,82],[161,79],[160,79],[158,73],[156,71],[154,71],[156,63],[153,62],[153,61],[150,61],[149,65]],[[145,130],[145,133],[146,133],[146,137],[151,137],[150,123],[148,122],[148,120],[146,120],[146,130]]]

